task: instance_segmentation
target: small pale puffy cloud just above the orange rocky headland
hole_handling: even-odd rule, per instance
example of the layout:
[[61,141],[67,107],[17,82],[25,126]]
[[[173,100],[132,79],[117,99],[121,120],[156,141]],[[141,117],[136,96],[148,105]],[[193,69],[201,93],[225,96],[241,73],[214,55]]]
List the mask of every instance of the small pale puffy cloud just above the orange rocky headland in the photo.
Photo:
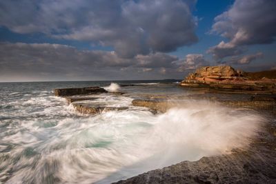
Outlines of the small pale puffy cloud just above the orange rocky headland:
[[195,70],[208,64],[209,62],[204,59],[203,54],[187,54],[185,59],[180,63],[178,71]]

